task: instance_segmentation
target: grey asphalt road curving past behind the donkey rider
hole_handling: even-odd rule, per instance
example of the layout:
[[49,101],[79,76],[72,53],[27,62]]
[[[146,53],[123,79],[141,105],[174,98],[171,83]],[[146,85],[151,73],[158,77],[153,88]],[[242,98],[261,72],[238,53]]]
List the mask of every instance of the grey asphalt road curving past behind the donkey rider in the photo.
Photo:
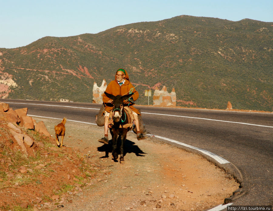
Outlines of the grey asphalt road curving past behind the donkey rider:
[[[100,108],[92,103],[5,99],[0,102],[8,102],[13,109],[27,107],[28,115],[59,119],[66,116],[92,123]],[[205,149],[230,162],[219,166],[231,172],[234,169],[241,182],[242,193],[232,199],[233,205],[272,205],[273,113],[136,107],[141,109],[151,134]]]

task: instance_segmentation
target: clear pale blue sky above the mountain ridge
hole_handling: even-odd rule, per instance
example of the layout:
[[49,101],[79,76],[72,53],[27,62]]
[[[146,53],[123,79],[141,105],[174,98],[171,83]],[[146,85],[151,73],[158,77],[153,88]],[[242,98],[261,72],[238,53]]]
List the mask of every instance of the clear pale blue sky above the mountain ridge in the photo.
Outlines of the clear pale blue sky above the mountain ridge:
[[273,22],[273,0],[0,0],[0,48],[178,15]]

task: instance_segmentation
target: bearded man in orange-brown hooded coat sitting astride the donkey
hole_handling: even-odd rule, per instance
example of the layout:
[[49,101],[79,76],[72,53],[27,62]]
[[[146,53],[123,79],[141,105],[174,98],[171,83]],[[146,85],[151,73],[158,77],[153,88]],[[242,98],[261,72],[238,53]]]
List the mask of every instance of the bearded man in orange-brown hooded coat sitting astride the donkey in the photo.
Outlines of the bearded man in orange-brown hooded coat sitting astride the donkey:
[[[129,81],[129,75],[124,69],[118,69],[116,71],[115,80],[111,81],[109,85],[107,86],[106,93],[111,95],[126,95],[129,92],[133,93],[131,99],[127,100],[129,108],[132,110],[133,118],[135,119],[135,126],[136,126],[136,138],[138,140],[146,139],[147,136],[143,135],[143,131],[140,131],[140,123],[138,115],[141,115],[139,110],[133,107],[133,102],[138,99],[138,92],[133,87],[131,82]],[[109,125],[109,116],[110,112],[113,110],[113,106],[111,106],[111,103],[113,102],[112,99],[106,96],[105,93],[103,93],[103,105],[105,106],[105,112],[104,112],[104,137],[99,139],[99,142],[108,144],[108,125]]]

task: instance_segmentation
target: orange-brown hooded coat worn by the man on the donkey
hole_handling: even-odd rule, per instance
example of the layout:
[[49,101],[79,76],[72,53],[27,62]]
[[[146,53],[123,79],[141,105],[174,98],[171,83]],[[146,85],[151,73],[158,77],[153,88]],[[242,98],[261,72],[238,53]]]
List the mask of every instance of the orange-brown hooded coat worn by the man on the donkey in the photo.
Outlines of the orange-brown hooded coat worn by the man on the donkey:
[[[138,99],[138,92],[136,91],[136,89],[133,87],[133,85],[131,84],[131,82],[129,81],[129,75],[127,73],[127,71],[125,70],[125,78],[124,78],[125,82],[124,84],[122,84],[121,86],[119,85],[116,76],[115,76],[115,80],[111,81],[109,83],[109,85],[106,87],[105,92],[107,92],[108,94],[111,95],[126,95],[129,93],[134,93],[131,96],[131,100],[136,101]],[[131,92],[130,92],[131,91]],[[105,106],[105,110],[106,112],[110,113],[111,110],[113,110],[112,106],[108,106],[106,105],[106,103],[110,100],[109,97],[107,97],[104,93],[103,93],[103,104]],[[138,111],[138,109],[136,109],[135,107],[133,107],[134,103],[130,102],[129,108],[132,109],[133,112],[136,112],[138,115],[140,115],[140,112]]]

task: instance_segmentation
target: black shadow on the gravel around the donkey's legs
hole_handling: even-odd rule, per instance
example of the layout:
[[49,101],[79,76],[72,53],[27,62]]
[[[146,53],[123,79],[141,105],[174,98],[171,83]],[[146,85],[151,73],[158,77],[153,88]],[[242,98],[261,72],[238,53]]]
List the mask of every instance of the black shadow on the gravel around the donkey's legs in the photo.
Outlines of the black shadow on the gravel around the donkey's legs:
[[[105,152],[105,156],[102,156],[100,158],[108,158],[109,153],[112,154],[112,139],[109,140],[108,144],[104,144],[103,146],[99,146],[97,149],[99,152]],[[146,152],[143,152],[137,145],[134,145],[135,142],[132,142],[128,139],[124,141],[124,147],[123,147],[123,155],[127,153],[135,153],[136,156],[145,156],[143,154],[147,154]],[[117,144],[116,152],[120,155],[120,143]]]

